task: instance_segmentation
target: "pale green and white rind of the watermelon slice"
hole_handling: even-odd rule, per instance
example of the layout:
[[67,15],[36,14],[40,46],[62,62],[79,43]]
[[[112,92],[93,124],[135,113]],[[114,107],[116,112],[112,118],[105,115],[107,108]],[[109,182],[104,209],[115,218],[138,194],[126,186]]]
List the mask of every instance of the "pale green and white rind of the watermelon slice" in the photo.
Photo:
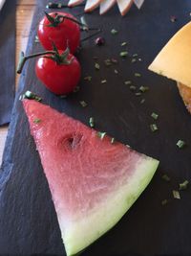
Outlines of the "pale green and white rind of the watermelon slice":
[[73,256],[110,230],[129,210],[155,174],[159,161],[144,156],[126,185],[118,187],[109,198],[81,220],[66,222],[58,216],[62,239],[68,256]]

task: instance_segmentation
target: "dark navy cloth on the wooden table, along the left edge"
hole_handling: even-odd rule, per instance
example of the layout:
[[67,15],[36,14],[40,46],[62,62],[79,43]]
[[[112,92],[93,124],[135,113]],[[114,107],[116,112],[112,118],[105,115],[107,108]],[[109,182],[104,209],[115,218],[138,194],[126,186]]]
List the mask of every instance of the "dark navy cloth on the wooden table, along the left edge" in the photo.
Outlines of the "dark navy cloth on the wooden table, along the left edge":
[[16,0],[7,0],[0,12],[0,126],[10,123],[15,93]]

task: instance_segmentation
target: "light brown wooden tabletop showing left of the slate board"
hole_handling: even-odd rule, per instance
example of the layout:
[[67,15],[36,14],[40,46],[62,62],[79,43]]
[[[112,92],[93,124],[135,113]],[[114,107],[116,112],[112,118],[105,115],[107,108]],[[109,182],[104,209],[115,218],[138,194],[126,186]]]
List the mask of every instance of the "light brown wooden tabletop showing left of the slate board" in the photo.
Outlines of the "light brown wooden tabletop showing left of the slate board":
[[[32,13],[35,8],[35,0],[17,0],[16,7],[16,63],[20,51],[25,51],[32,22]],[[16,76],[15,84],[19,77]],[[4,151],[8,127],[0,128],[0,164]]]

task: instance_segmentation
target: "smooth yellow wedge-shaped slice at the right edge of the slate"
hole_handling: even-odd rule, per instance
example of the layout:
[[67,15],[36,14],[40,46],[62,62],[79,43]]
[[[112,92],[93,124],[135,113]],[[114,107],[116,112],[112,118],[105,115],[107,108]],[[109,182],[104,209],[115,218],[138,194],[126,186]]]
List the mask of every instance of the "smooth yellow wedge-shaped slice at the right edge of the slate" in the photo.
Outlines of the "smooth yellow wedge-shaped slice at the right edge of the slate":
[[149,70],[191,88],[191,22],[174,35],[149,66]]

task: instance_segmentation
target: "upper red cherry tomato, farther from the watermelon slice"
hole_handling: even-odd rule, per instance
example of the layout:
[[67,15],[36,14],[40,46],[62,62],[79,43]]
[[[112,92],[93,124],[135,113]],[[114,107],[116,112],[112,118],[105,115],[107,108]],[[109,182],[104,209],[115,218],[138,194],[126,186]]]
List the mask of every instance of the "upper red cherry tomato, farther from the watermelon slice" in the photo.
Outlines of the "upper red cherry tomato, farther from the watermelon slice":
[[[53,18],[56,18],[57,15],[63,15],[75,19],[73,15],[66,12],[51,12],[49,15]],[[37,34],[42,46],[46,50],[52,50],[53,43],[55,44],[56,48],[60,50],[66,50],[67,46],[69,46],[70,52],[74,54],[79,46],[79,25],[67,18],[60,18],[60,23],[58,23],[55,27],[51,25],[52,23],[46,15],[38,25]]]

